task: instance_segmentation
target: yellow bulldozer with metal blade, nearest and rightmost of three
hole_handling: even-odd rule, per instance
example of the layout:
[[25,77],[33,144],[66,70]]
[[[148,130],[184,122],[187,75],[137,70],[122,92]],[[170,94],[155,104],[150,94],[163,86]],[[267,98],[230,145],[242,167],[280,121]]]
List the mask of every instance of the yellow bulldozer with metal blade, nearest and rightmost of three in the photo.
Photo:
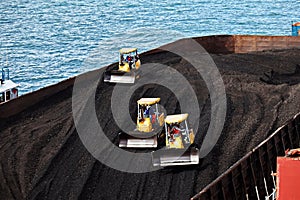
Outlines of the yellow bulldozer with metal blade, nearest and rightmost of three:
[[152,152],[153,166],[191,165],[199,163],[199,150],[194,147],[195,135],[188,128],[188,114],[165,118],[166,146]]

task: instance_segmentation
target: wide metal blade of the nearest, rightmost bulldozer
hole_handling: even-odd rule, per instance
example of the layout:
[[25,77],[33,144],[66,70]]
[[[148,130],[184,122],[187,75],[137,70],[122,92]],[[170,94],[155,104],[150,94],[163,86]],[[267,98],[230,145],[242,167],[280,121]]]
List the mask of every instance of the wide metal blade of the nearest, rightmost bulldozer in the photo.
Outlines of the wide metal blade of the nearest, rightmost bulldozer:
[[199,150],[195,147],[188,149],[162,149],[151,154],[154,167],[199,164]]

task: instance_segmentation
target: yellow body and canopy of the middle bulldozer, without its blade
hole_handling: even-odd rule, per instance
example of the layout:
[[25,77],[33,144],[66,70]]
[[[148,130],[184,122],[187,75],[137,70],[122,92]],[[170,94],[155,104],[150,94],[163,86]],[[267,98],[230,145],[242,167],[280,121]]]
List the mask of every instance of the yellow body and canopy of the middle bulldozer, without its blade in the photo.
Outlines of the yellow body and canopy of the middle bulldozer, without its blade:
[[159,112],[160,98],[141,98],[138,103],[137,130],[152,132],[155,126],[162,126],[164,114]]

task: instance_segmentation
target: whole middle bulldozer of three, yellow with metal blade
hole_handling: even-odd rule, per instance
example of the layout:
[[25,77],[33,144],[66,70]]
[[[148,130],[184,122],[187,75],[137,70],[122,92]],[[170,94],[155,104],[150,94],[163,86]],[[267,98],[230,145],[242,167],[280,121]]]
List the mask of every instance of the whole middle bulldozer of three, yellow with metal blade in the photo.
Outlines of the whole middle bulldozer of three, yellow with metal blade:
[[141,98],[138,103],[136,129],[119,134],[119,147],[156,148],[157,137],[164,125],[164,114],[159,112],[160,98]]

